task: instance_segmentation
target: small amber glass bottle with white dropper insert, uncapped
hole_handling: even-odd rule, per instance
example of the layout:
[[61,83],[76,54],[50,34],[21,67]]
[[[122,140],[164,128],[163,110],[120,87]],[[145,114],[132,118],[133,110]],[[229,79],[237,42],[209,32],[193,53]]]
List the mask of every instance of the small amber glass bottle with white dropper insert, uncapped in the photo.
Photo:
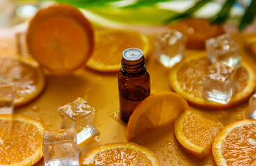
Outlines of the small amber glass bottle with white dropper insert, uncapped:
[[138,48],[128,48],[122,53],[122,67],[118,75],[120,116],[128,122],[131,113],[141,100],[150,95],[150,75],[145,58]]

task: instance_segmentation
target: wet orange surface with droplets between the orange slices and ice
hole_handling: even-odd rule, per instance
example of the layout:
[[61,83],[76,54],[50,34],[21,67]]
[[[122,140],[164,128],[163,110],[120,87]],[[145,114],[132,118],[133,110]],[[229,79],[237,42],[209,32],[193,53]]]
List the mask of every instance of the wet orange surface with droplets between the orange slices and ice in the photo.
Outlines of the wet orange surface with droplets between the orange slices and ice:
[[[202,53],[202,50],[188,50],[186,55],[193,56]],[[168,84],[168,71],[170,69],[161,66],[153,55],[146,61],[147,71],[151,78],[151,92],[159,93],[170,91]],[[161,71],[161,72],[159,72]],[[58,107],[72,102],[78,97],[84,98],[97,111],[96,125],[100,132],[97,141],[88,142],[81,147],[81,156],[88,150],[111,142],[127,142],[126,125],[120,122],[115,111],[119,110],[118,97],[118,73],[104,74],[88,71],[77,72],[76,75],[47,75],[45,91],[30,104],[15,110],[32,118],[42,120],[49,129],[59,129],[60,118]],[[239,107],[228,110],[209,111],[207,109],[196,110],[205,118],[216,120],[224,125],[230,124],[246,117],[248,102]],[[111,114],[114,113],[114,114]],[[112,115],[112,116],[111,116]],[[161,165],[214,165],[212,156],[206,156],[198,160],[182,149],[175,138],[173,124],[154,129],[138,136],[134,142],[148,147],[154,151]],[[36,166],[44,165],[43,160]]]

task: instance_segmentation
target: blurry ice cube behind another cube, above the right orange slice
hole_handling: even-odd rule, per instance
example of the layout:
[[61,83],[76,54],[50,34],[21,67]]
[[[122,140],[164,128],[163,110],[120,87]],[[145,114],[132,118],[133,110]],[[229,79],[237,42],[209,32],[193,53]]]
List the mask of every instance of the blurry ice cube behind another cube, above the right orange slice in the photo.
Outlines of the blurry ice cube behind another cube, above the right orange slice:
[[239,46],[225,33],[206,41],[207,55],[212,63],[223,62],[228,66],[241,66]]

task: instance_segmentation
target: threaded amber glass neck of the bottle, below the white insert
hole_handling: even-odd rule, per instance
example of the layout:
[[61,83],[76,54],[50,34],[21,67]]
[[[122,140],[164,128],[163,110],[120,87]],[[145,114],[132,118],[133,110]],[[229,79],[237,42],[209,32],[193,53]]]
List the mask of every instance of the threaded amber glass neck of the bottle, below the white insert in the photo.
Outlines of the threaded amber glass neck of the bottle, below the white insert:
[[145,58],[144,56],[141,57],[141,59],[138,59],[136,61],[128,61],[127,59],[122,58],[122,67],[121,72],[122,73],[128,73],[128,74],[138,74],[138,73],[145,73],[146,66],[145,66]]

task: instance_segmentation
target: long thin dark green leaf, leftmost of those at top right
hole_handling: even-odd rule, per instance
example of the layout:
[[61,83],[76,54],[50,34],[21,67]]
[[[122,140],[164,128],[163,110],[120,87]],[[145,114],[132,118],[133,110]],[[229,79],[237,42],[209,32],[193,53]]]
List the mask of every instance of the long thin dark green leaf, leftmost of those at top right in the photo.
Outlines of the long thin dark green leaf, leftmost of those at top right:
[[197,11],[198,9],[202,8],[202,6],[205,6],[205,4],[209,3],[211,0],[201,0],[195,3],[194,6],[183,12],[182,14],[175,15],[174,17],[170,17],[169,19],[166,19],[164,23],[169,23],[171,21],[175,21],[177,19],[182,19],[184,17],[189,17],[193,12]]

